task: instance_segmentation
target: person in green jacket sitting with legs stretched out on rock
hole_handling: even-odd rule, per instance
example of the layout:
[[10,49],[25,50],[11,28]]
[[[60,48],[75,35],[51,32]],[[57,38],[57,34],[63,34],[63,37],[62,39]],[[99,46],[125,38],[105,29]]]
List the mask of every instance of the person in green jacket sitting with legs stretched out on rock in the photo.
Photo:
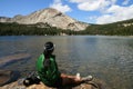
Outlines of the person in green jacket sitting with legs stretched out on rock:
[[62,87],[69,85],[80,85],[83,81],[91,80],[91,77],[81,78],[80,76],[68,76],[61,73],[58,69],[55,56],[52,55],[55,44],[47,42],[44,51],[37,60],[37,71],[40,80],[48,87]]

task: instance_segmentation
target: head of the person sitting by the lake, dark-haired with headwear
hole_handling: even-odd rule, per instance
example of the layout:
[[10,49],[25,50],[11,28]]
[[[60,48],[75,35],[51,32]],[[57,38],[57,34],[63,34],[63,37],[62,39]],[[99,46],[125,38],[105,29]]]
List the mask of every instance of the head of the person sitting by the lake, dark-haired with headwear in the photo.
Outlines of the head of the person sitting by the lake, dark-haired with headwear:
[[54,50],[54,44],[53,42],[45,42],[44,43],[44,55],[51,55]]

